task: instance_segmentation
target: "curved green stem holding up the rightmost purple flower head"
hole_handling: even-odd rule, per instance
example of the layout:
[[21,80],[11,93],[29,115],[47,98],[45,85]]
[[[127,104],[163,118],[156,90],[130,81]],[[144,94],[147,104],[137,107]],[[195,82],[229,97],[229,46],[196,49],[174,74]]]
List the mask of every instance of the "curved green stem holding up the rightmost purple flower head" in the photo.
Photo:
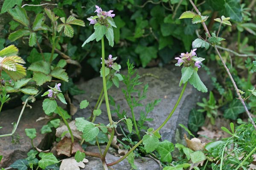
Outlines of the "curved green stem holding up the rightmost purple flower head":
[[[188,84],[188,82],[186,82],[183,86],[183,89],[182,91],[180,92],[180,96],[174,106],[174,108],[172,108],[172,111],[171,113],[169,113],[169,116],[166,118],[166,120],[162,123],[162,125],[160,125],[157,130],[154,130],[153,133],[156,133],[157,131],[159,131],[165,124],[166,122],[168,122],[168,120],[172,117],[172,114],[175,112],[177,106],[179,105],[179,102],[180,102],[180,99],[182,98],[183,94],[184,94],[184,91],[186,89],[186,85]],[[110,163],[110,164],[107,164],[108,166],[113,166],[115,164],[118,164],[120,161],[124,160],[131,152],[133,152],[141,143],[143,142],[143,139],[140,140],[140,142],[138,142],[137,144],[134,145],[134,147],[131,148],[131,150],[128,151],[128,153],[126,153],[122,158]]]

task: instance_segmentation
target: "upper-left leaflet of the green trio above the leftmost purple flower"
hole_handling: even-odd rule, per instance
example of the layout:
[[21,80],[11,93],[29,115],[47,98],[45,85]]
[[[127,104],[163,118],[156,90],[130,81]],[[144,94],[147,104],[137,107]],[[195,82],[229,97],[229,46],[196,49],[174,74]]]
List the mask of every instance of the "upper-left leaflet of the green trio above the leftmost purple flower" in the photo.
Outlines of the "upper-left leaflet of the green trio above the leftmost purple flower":
[[51,71],[51,65],[49,64],[49,62],[46,61],[37,61],[33,62],[29,66],[28,70],[37,71],[48,75]]

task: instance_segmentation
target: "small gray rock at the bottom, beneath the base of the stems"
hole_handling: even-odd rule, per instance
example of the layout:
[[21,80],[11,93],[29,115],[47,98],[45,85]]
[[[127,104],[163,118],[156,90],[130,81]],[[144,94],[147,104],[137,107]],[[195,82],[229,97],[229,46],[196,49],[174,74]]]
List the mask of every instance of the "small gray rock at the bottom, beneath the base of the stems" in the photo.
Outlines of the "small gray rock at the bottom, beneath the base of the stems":
[[[101,146],[102,153],[104,152],[105,146]],[[98,152],[99,149],[97,146],[91,146],[87,147],[87,150],[90,150],[90,152]],[[106,155],[106,162],[111,163],[116,160],[118,160],[119,156],[113,156],[113,154],[110,154],[110,152]],[[87,158],[89,160],[88,163],[85,164],[85,167],[81,170],[103,170],[102,161],[99,158],[90,157]],[[134,164],[137,166],[137,170],[160,170],[159,164],[157,164],[156,161],[154,161],[151,158],[141,158],[141,159],[135,159]],[[131,170],[131,164],[128,163],[127,159],[119,162],[118,164],[115,164],[111,166],[109,169],[113,168],[114,170]]]

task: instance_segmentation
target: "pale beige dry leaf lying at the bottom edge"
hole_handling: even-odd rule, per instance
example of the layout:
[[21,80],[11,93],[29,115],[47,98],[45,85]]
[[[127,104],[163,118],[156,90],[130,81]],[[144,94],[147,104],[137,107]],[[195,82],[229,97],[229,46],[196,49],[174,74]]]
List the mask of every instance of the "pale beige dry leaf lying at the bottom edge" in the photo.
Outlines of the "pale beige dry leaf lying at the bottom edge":
[[61,162],[60,170],[80,170],[79,167],[84,168],[88,159],[84,158],[83,161],[77,162],[74,157],[63,159]]

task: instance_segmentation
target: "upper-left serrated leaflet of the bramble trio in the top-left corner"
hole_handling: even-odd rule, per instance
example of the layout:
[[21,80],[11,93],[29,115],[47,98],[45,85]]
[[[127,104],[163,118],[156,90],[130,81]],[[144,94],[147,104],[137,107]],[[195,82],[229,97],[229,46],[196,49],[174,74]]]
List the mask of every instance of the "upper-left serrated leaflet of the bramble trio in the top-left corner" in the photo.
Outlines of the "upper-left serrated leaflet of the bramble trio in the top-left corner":
[[13,19],[24,26],[29,26],[29,17],[26,14],[26,10],[20,6],[16,6],[14,9],[9,9],[8,13],[12,15]]

